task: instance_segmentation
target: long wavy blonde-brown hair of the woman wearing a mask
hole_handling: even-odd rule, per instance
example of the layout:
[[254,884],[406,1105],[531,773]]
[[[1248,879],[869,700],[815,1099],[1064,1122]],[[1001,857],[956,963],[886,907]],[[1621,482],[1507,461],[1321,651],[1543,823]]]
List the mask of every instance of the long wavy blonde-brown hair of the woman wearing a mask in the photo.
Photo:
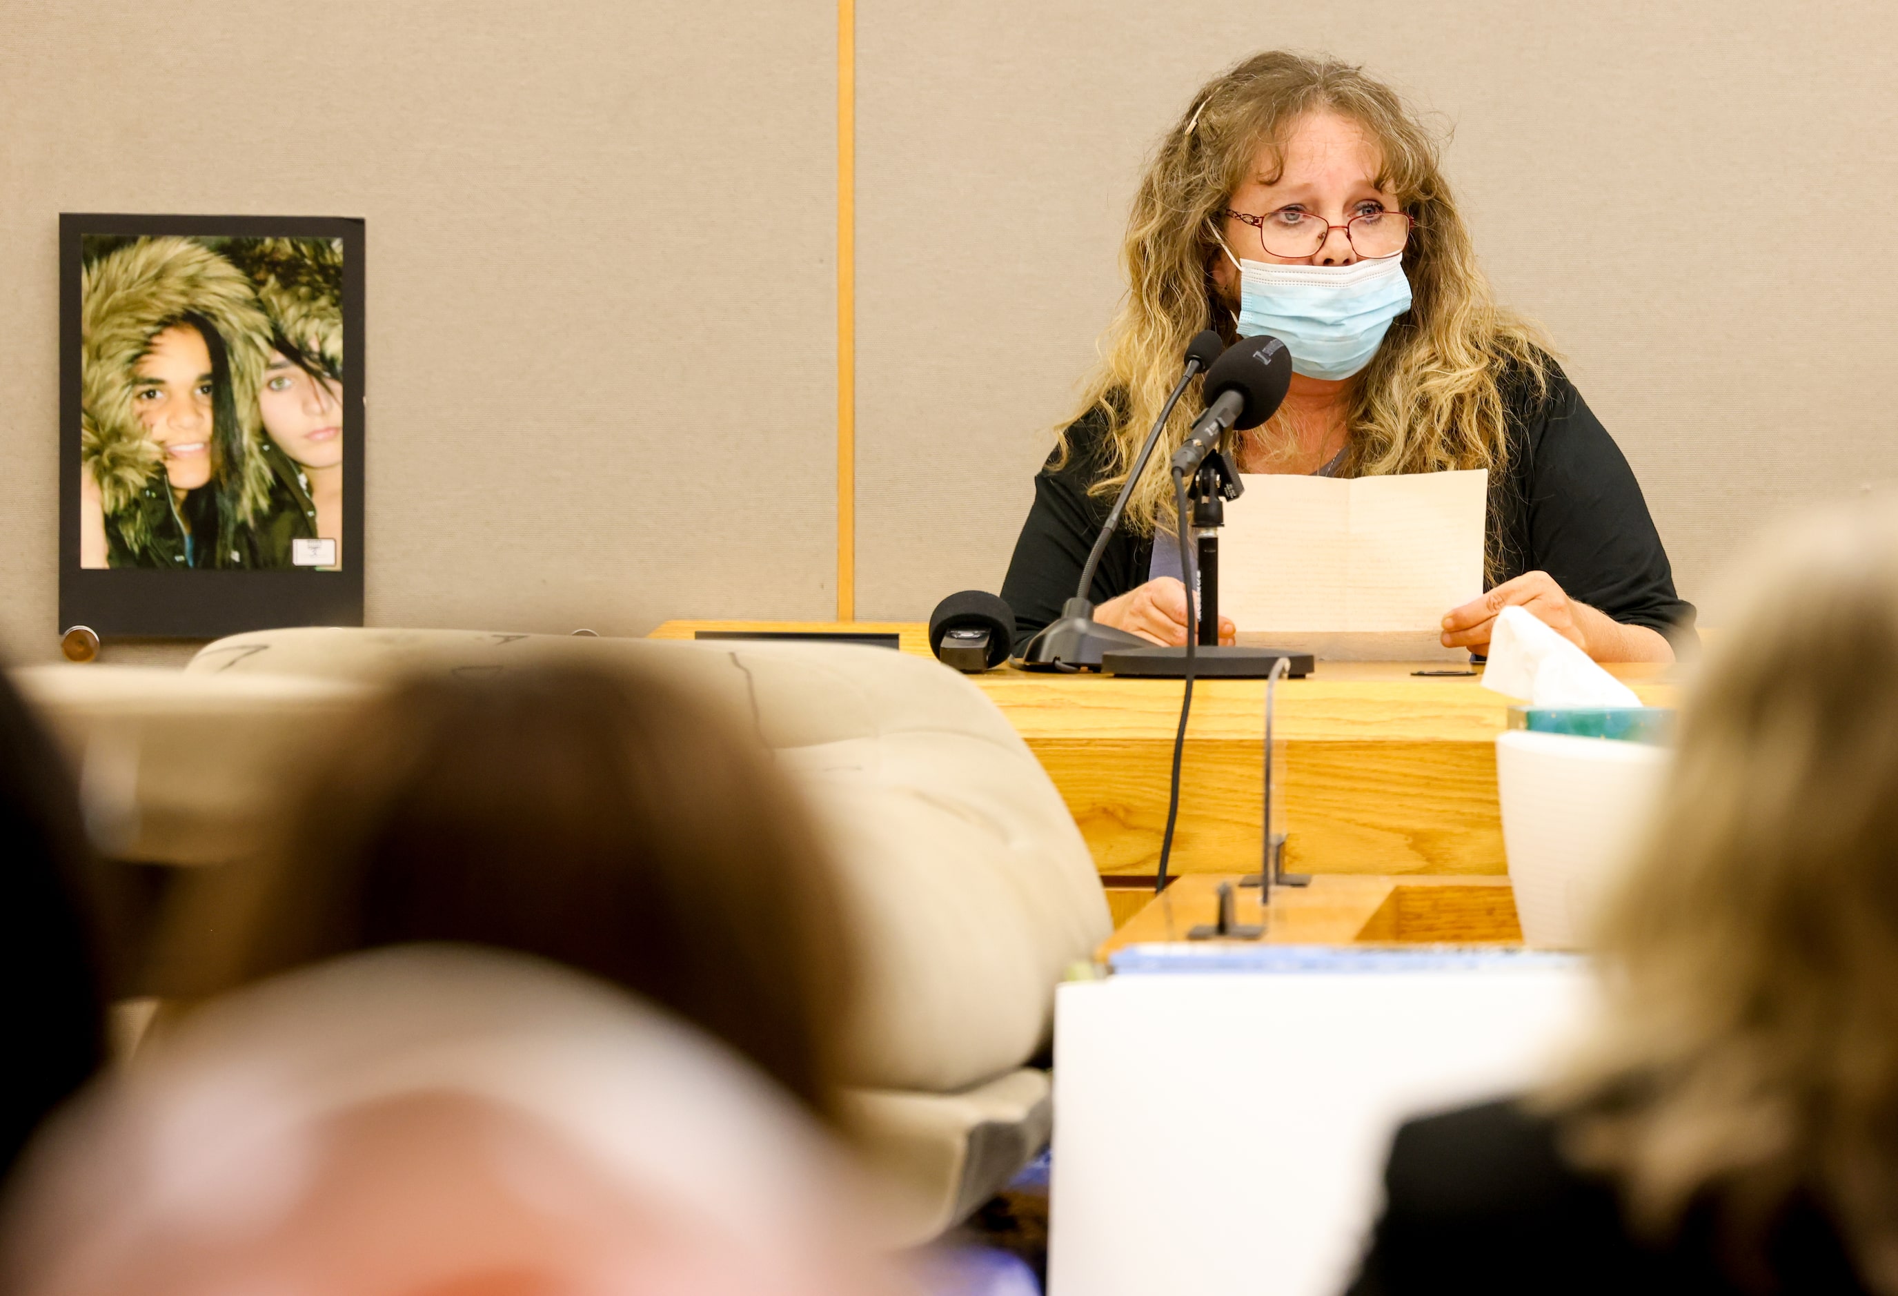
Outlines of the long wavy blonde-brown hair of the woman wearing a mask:
[[[1219,213],[1253,173],[1260,150],[1283,157],[1293,123],[1323,110],[1351,118],[1380,144],[1378,186],[1416,216],[1403,252],[1412,305],[1353,381],[1346,474],[1496,472],[1507,463],[1499,383],[1507,368],[1518,366],[1543,389],[1549,353],[1539,330],[1490,296],[1442,178],[1437,140],[1361,68],[1274,49],[1207,82],[1141,178],[1120,252],[1127,294],[1074,416],[1099,412],[1108,423],[1108,463],[1093,482],[1095,493],[1114,493],[1126,482],[1179,381],[1188,340],[1203,328],[1236,338],[1237,321],[1213,281],[1213,258],[1224,254]],[[1186,438],[1198,406],[1198,398],[1181,400],[1162,440],[1165,452]],[[1061,459],[1070,450],[1063,435]],[[1141,533],[1156,526],[1171,531],[1167,457],[1154,455],[1127,501],[1127,520]]]

